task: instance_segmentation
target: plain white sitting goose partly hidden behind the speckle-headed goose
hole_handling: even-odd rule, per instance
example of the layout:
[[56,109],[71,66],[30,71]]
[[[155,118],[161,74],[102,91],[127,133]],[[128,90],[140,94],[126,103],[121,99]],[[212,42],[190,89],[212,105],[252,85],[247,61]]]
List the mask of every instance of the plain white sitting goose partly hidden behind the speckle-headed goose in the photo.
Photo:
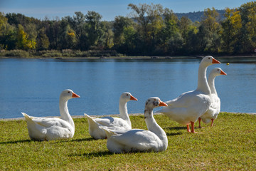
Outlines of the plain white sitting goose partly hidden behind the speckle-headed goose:
[[110,116],[103,118],[91,118],[89,115],[85,114],[89,124],[89,133],[92,138],[95,139],[105,139],[107,135],[102,127],[109,128],[111,130],[130,130],[132,129],[132,123],[129,119],[127,111],[127,102],[129,100],[137,100],[131,93],[124,92],[119,98],[119,117],[113,118]]

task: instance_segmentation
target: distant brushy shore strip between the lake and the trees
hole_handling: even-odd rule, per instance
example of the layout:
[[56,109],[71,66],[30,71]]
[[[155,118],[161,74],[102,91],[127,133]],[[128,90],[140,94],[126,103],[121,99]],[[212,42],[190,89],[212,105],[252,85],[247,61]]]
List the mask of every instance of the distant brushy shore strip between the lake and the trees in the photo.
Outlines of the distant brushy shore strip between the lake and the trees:
[[255,58],[256,53],[240,53],[240,54],[228,54],[228,53],[204,53],[204,54],[184,54],[174,56],[127,56],[126,54],[117,53],[114,50],[103,51],[73,51],[73,50],[47,50],[47,51],[23,51],[23,50],[11,50],[0,51],[0,58],[54,58],[54,59],[162,59],[162,58],[202,58],[204,56],[214,56],[216,58]]

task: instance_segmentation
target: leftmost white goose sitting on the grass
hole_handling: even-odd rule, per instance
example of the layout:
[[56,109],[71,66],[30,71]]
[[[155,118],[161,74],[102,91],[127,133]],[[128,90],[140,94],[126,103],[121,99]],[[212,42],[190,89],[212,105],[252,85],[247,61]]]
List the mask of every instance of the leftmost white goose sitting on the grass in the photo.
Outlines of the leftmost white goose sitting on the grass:
[[73,90],[63,90],[60,94],[60,118],[38,118],[22,113],[28,125],[28,135],[32,140],[60,140],[73,138],[75,124],[68,113],[68,100],[80,98]]

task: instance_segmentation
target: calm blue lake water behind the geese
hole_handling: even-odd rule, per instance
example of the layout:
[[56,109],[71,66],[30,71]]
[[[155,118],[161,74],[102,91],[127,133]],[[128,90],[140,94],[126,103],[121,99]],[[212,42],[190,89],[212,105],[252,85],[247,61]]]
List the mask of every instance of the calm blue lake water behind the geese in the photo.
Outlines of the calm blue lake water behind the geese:
[[[256,113],[256,58],[218,58],[228,76],[215,78],[221,111]],[[118,114],[119,96],[138,101],[129,113],[143,113],[147,98],[171,100],[197,87],[201,59],[19,59],[0,58],[0,118],[59,114],[58,98],[70,88],[80,98],[68,101],[70,115]],[[226,63],[230,63],[229,66]]]

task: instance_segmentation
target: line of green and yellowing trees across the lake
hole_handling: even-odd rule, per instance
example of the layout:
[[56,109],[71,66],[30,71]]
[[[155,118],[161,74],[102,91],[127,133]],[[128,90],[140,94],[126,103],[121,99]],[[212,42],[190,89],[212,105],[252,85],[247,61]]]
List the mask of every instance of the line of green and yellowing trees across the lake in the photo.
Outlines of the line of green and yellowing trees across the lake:
[[161,4],[129,4],[131,17],[102,21],[95,11],[62,19],[38,20],[0,12],[0,48],[24,51],[116,51],[127,56],[174,56],[204,53],[254,53],[256,1],[203,11],[201,21],[181,19]]

